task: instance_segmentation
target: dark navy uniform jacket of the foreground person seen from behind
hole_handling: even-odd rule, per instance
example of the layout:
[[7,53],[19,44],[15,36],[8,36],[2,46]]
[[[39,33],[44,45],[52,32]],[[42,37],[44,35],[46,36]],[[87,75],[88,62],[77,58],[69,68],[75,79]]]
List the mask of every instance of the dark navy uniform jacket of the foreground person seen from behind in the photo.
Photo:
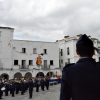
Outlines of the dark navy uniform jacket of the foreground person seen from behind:
[[80,59],[63,69],[60,100],[100,100],[100,63]]

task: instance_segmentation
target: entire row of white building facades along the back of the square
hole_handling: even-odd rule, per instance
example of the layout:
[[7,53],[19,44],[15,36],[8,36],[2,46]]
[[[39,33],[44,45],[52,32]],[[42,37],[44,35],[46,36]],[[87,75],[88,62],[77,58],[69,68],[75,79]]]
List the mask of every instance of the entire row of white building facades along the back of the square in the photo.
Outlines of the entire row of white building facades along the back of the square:
[[[21,78],[36,76],[61,75],[62,68],[69,63],[76,63],[76,42],[80,35],[65,36],[56,42],[14,40],[14,29],[0,27],[0,77]],[[94,46],[100,48],[100,41],[89,38]],[[41,57],[41,65],[36,64]],[[95,51],[93,58],[98,62],[100,55]]]

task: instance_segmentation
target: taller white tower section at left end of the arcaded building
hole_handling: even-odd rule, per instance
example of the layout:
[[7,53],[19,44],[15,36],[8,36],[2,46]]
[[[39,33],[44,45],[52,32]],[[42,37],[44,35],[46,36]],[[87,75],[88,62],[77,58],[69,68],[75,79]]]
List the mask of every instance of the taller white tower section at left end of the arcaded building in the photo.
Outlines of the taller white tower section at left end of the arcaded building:
[[0,74],[9,74],[13,66],[13,32],[14,28],[0,27]]

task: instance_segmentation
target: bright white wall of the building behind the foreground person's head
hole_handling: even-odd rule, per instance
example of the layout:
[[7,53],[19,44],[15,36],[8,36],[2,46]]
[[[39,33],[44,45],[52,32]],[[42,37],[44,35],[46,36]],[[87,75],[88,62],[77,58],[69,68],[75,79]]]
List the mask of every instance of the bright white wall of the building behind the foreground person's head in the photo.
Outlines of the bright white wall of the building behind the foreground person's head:
[[[76,42],[77,42],[77,37],[74,38],[65,38],[63,40],[58,41],[59,44],[59,49],[63,49],[63,56],[59,57],[59,59],[63,59],[63,67],[65,66],[65,62],[67,62],[68,59],[70,59],[70,63],[76,63],[79,60],[78,55],[76,54]],[[65,42],[66,41],[66,42]],[[94,46],[95,47],[100,47],[100,44],[97,43],[97,40],[93,40]],[[67,55],[67,47],[69,47],[70,54]],[[99,61],[100,55],[97,54],[95,51],[95,55],[93,55],[93,58],[98,62]]]

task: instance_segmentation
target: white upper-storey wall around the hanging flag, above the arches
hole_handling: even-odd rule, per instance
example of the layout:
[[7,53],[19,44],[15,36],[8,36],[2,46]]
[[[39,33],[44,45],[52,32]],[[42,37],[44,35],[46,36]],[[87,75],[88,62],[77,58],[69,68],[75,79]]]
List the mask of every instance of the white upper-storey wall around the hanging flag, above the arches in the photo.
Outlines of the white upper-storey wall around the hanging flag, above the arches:
[[[21,61],[26,60],[26,65],[29,65],[29,60],[33,60],[33,68],[37,68],[36,66],[36,58],[38,54],[43,53],[43,49],[47,49],[47,54],[42,56],[43,60],[47,60],[47,65],[50,65],[50,60],[53,60],[54,65],[53,69],[59,68],[59,48],[57,43],[52,42],[35,42],[35,41],[16,41],[13,42],[13,65],[14,60],[18,60],[18,65],[22,65]],[[26,53],[22,53],[22,48],[26,48]],[[37,54],[33,54],[33,48],[37,48]],[[18,66],[14,66],[18,67]],[[32,66],[30,66],[30,69]]]

